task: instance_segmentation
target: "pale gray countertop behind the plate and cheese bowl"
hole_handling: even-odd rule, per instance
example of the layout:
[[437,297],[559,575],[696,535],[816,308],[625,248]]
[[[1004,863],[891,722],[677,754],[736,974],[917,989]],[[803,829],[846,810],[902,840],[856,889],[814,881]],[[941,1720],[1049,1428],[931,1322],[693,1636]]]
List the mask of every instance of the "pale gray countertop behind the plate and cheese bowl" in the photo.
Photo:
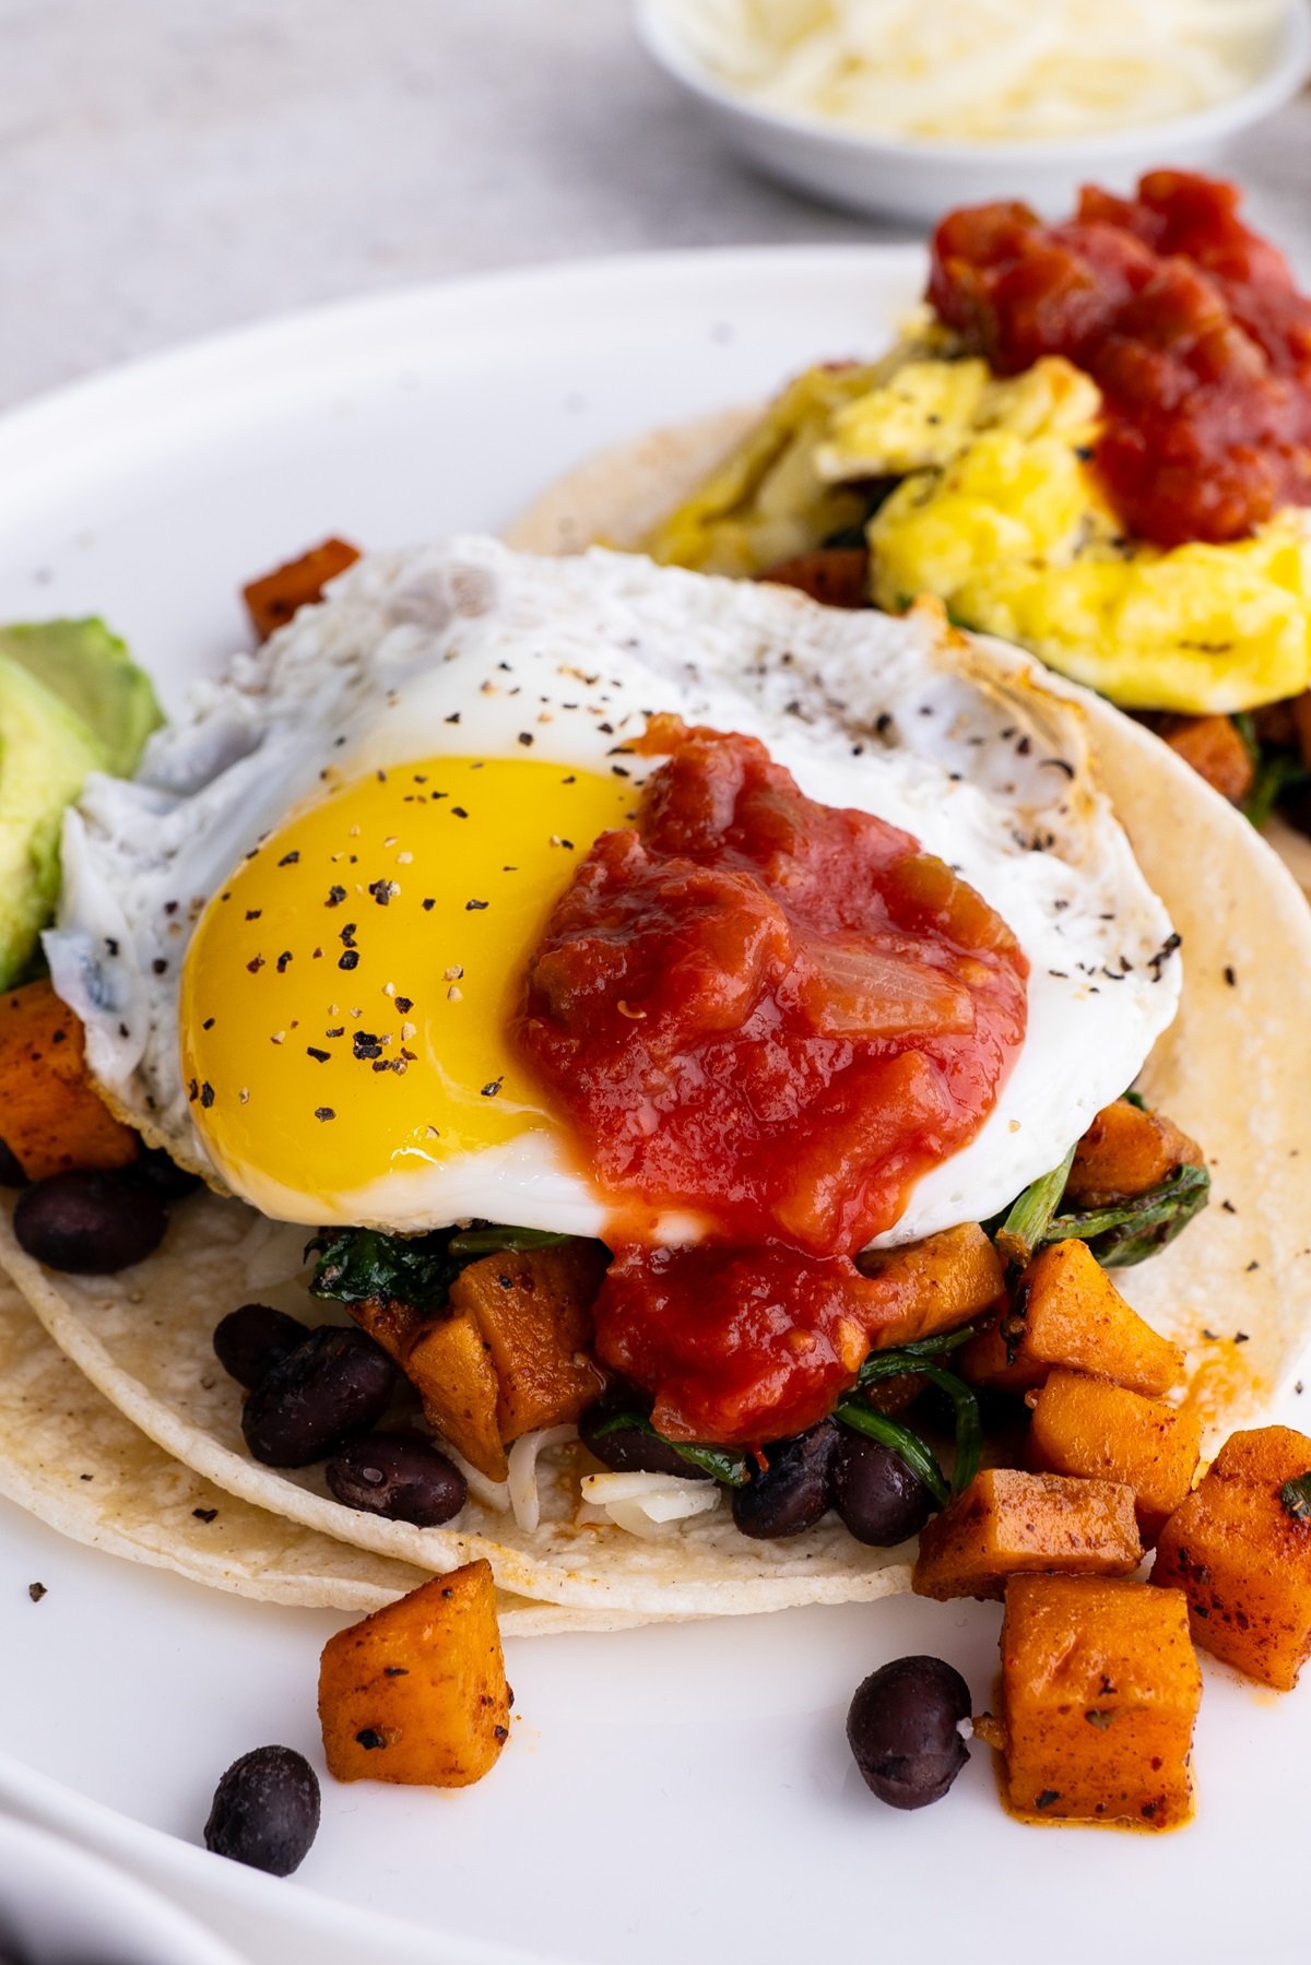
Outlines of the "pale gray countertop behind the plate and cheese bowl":
[[[898,238],[751,175],[625,0],[0,0],[0,403],[478,267]],[[1311,269],[1311,96],[1225,157]]]

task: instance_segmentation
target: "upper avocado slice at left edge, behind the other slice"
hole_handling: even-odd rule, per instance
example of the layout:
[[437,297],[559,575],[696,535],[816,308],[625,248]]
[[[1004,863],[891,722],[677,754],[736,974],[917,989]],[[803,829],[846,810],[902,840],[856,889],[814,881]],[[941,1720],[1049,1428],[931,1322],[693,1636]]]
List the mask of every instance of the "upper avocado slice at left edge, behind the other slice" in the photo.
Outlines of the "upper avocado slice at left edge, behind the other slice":
[[163,717],[151,680],[104,621],[29,621],[0,627],[0,656],[61,698],[102,745],[98,770],[130,778]]

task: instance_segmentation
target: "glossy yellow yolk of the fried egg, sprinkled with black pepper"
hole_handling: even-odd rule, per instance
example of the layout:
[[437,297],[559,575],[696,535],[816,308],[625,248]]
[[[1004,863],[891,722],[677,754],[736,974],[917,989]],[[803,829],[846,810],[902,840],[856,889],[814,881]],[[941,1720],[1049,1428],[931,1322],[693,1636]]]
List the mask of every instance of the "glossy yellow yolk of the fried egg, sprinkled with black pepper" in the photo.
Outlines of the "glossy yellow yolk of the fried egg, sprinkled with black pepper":
[[436,757],[263,839],[200,916],[181,984],[191,1114],[234,1191],[314,1222],[552,1126],[509,1016],[578,859],[633,808],[617,776]]

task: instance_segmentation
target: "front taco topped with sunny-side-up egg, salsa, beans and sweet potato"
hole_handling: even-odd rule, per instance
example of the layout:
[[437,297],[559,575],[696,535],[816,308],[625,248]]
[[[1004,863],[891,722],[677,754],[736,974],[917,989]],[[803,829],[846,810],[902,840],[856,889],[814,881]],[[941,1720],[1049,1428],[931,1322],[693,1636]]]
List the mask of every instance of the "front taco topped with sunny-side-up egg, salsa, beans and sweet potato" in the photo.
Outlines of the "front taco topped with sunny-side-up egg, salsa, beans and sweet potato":
[[1305,1338],[1287,874],[934,603],[370,556],[86,782],[45,949],[4,1265],[252,1578],[267,1517],[556,1625],[871,1600],[1061,1374],[1158,1488],[1048,1460],[1036,1533],[1124,1576]]

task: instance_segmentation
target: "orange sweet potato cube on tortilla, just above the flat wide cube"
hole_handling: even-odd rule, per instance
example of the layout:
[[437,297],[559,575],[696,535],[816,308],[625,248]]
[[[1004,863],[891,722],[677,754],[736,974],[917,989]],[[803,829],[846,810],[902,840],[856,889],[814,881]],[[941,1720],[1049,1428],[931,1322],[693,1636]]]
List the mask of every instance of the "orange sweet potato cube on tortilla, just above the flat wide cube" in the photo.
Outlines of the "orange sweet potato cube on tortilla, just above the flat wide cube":
[[1124,1482],[1142,1539],[1154,1543],[1193,1486],[1201,1421],[1105,1377],[1052,1372],[1034,1401],[1028,1452],[1044,1474]]

